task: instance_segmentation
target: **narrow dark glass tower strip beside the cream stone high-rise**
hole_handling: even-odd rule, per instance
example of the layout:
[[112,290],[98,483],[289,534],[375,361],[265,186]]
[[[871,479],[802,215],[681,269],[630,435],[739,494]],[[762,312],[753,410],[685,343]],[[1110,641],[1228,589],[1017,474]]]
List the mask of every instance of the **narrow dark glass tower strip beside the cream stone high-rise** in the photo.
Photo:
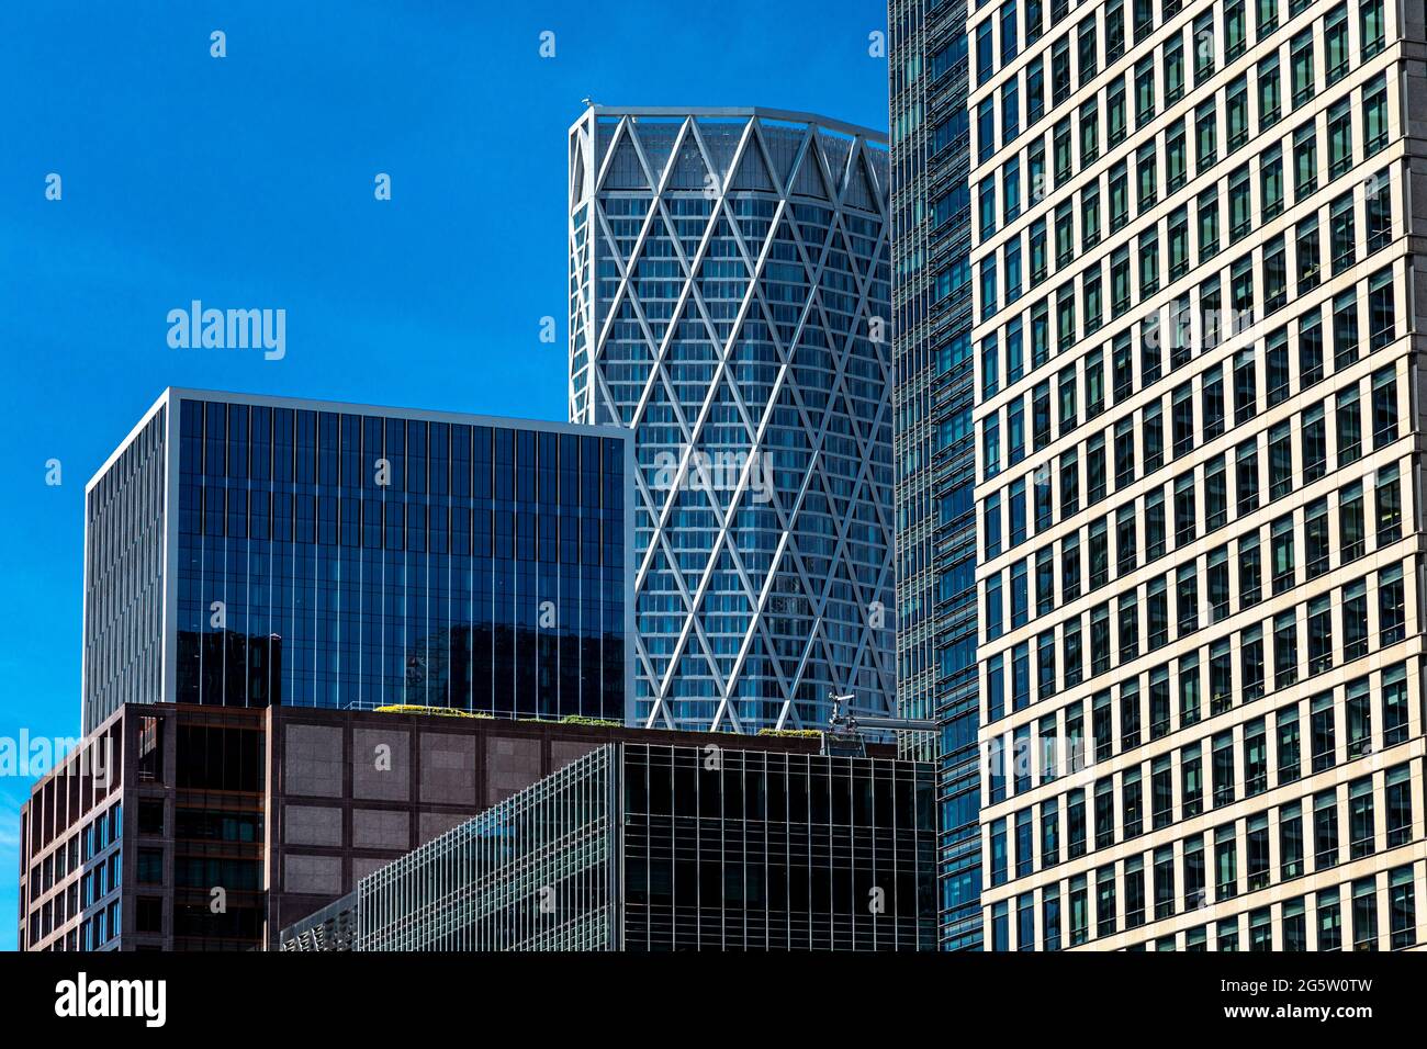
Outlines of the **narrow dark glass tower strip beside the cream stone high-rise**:
[[913,748],[940,765],[940,942],[953,951],[982,942],[966,7],[888,6],[898,705],[939,725]]

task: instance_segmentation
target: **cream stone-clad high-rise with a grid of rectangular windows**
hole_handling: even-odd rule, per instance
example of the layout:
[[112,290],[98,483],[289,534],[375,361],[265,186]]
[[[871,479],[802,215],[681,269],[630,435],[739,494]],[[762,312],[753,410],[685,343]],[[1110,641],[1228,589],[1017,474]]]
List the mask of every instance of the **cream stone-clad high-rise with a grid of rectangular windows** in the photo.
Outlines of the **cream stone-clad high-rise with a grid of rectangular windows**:
[[987,948],[1421,942],[1423,19],[969,16]]

